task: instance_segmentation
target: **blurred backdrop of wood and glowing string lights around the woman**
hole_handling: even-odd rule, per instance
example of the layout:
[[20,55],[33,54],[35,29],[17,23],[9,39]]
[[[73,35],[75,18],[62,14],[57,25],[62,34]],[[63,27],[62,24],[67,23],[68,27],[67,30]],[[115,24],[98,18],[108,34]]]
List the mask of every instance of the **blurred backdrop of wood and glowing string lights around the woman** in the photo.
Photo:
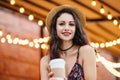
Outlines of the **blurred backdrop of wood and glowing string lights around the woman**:
[[120,0],[0,0],[0,80],[40,80],[47,54],[48,12],[70,4],[86,15],[97,80],[120,80]]

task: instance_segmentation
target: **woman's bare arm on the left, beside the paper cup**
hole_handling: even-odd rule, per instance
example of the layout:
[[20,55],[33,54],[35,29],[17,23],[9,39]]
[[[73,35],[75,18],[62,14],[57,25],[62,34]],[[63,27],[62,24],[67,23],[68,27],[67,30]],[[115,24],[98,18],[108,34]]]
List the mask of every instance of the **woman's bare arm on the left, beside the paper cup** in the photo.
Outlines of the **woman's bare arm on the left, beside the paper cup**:
[[40,61],[41,80],[48,80],[48,57],[45,56]]

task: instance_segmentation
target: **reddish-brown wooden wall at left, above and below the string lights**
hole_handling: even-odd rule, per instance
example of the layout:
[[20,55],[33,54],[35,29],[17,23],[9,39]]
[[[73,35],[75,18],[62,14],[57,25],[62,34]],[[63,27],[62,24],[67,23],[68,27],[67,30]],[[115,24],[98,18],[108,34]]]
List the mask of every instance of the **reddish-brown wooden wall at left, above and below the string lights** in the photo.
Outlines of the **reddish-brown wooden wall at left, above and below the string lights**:
[[[23,15],[0,10],[0,29],[4,35],[33,40],[39,38],[40,27]],[[40,49],[0,43],[0,80],[39,80]]]

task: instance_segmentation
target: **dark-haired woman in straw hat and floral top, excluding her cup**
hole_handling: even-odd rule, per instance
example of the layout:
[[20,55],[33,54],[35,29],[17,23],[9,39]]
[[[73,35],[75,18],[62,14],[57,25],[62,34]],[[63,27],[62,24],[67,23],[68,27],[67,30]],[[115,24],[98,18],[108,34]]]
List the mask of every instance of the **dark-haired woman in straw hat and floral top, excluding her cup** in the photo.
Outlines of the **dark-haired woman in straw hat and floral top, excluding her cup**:
[[49,61],[55,58],[65,60],[68,80],[96,80],[95,51],[84,32],[85,22],[82,11],[70,5],[49,12],[46,26],[50,32],[50,49],[41,59],[41,80],[54,75],[49,71]]

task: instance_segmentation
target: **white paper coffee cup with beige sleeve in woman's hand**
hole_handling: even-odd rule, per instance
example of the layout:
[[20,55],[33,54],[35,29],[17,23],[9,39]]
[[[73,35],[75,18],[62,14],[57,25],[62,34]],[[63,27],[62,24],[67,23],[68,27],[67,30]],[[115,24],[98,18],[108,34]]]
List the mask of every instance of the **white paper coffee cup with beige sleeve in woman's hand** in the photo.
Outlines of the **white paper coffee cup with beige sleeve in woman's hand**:
[[53,75],[53,80],[64,80],[65,78],[65,61],[64,59],[52,59],[49,63]]

